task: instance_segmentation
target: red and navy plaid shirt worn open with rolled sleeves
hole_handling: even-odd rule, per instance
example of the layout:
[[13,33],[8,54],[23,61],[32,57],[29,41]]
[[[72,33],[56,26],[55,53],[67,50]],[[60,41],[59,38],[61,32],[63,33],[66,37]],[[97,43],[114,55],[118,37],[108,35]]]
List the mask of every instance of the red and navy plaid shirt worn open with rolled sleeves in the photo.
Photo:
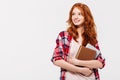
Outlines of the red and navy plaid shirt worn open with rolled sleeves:
[[[72,36],[67,31],[62,31],[59,33],[56,39],[56,47],[51,59],[52,62],[60,59],[67,61],[71,40]],[[95,47],[100,50],[98,43],[95,44]],[[101,53],[97,56],[96,60],[102,62],[103,67],[105,66],[105,59],[102,57]],[[98,69],[94,69],[93,71],[95,74],[95,79],[100,80]],[[65,80],[65,72],[66,70],[61,68],[60,80]]]

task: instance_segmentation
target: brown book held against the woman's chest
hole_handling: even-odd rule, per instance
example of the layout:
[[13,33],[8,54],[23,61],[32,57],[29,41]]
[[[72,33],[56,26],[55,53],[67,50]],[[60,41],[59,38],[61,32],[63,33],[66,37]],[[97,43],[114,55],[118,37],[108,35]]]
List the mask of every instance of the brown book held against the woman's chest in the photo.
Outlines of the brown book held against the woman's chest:
[[77,55],[75,56],[79,60],[93,60],[95,59],[96,51],[90,48],[80,46]]

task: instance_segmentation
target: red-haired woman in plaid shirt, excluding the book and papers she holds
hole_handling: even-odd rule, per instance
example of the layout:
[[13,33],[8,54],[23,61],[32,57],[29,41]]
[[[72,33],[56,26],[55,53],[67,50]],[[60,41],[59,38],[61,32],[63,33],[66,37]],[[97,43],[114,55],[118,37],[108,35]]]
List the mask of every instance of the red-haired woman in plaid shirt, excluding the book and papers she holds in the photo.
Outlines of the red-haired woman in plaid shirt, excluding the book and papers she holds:
[[[75,55],[80,45],[88,43],[99,49],[95,23],[90,9],[75,3],[69,13],[69,27],[61,31],[56,39],[52,62],[61,68],[60,80],[100,80],[98,69],[105,65],[101,53],[95,60],[78,60]],[[83,66],[83,67],[80,67]]]

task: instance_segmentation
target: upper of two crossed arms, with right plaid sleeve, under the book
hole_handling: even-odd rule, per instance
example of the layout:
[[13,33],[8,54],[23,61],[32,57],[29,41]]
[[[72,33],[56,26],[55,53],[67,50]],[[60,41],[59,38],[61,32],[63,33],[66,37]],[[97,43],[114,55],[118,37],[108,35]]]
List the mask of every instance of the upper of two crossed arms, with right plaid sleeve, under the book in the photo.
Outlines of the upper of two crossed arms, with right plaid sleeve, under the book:
[[[99,50],[98,43],[95,45],[95,47]],[[96,68],[96,69],[100,68],[101,69],[105,65],[105,59],[102,57],[101,53],[99,53],[96,60],[84,61],[84,60],[77,60],[75,58],[69,58],[69,62],[74,65],[85,66],[90,69],[92,69],[92,68]]]

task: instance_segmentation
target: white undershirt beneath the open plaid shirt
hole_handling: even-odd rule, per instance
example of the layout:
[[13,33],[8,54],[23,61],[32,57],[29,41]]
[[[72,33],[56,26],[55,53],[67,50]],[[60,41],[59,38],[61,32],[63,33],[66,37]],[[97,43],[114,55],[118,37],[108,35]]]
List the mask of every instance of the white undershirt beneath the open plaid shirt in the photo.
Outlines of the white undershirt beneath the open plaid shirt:
[[[81,41],[77,43],[74,39],[72,39],[70,43],[69,56],[75,57],[80,45],[81,45]],[[65,74],[65,80],[95,80],[95,75],[93,73],[91,74],[91,76],[86,77],[86,76],[83,76],[82,74],[72,73],[72,72],[67,71]]]

